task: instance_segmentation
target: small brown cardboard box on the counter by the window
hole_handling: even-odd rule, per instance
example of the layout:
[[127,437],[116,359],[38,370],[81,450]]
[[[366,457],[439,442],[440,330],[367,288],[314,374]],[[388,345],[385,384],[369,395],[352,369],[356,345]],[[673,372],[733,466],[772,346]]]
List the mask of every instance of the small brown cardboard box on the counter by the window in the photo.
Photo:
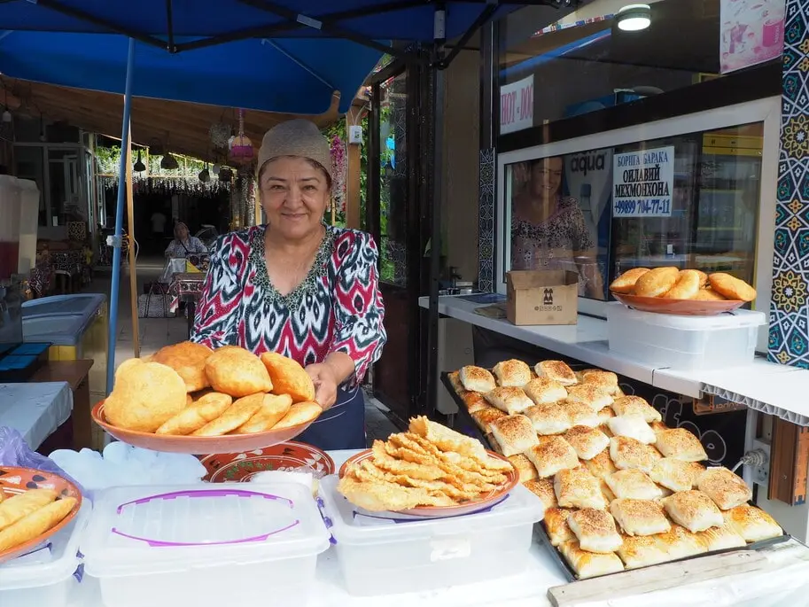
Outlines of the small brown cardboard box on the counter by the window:
[[506,318],[514,324],[576,324],[579,275],[566,270],[506,274]]

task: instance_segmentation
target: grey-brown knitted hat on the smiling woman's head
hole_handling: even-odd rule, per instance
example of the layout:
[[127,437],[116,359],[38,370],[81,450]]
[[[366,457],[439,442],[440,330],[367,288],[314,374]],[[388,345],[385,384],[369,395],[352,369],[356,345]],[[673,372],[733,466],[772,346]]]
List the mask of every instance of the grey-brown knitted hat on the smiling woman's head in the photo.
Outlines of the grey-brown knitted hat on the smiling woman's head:
[[312,121],[298,118],[281,122],[270,128],[261,140],[256,175],[269,160],[281,156],[299,156],[315,160],[331,179],[331,150],[329,141]]

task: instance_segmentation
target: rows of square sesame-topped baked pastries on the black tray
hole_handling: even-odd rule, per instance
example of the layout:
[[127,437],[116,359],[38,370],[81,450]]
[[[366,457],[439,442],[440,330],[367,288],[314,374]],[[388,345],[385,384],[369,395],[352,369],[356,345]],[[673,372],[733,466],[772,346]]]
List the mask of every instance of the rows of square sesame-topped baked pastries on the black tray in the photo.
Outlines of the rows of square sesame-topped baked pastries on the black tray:
[[610,371],[562,361],[450,374],[478,427],[545,506],[543,525],[580,579],[782,535],[750,488],[705,468],[694,434],[626,396]]

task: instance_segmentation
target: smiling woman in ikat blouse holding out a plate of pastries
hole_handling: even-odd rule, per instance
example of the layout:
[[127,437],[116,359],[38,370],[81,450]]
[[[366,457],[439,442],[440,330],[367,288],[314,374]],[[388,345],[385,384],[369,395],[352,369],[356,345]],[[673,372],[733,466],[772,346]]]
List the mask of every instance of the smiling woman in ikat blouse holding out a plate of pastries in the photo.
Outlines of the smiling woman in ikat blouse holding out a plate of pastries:
[[377,246],[368,234],[323,224],[331,153],[314,123],[269,130],[257,170],[268,223],[218,240],[192,339],[292,357],[325,409],[298,439],[323,449],[364,448],[359,385],[385,344]]

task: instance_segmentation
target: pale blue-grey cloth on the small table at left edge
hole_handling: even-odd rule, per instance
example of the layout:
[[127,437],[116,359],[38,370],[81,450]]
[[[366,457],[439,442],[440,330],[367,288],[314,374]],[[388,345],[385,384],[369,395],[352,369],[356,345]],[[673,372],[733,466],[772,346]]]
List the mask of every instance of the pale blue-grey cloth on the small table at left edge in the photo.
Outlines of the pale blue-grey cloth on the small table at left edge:
[[39,448],[73,411],[66,382],[0,384],[0,425],[17,430],[32,449]]

